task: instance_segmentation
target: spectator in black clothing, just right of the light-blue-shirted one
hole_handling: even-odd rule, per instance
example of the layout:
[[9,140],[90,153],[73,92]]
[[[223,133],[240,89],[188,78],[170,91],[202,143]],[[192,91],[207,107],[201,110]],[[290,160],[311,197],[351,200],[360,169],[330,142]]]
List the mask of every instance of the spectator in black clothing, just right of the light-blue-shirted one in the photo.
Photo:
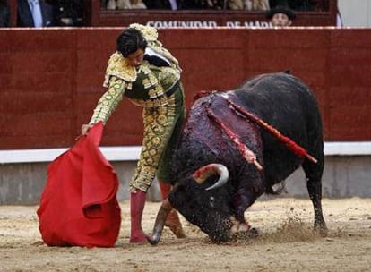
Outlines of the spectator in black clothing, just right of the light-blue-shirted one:
[[59,0],[58,25],[67,27],[82,26],[83,11],[82,0]]

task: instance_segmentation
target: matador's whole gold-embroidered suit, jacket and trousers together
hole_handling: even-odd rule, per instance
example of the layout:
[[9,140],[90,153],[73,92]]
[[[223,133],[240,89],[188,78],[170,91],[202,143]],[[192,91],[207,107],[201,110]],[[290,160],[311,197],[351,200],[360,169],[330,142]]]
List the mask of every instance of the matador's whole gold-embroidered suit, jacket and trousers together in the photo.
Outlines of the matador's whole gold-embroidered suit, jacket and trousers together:
[[140,30],[147,48],[168,65],[156,66],[144,60],[135,68],[120,53],[111,55],[103,84],[108,90],[99,98],[89,123],[106,123],[123,96],[143,106],[142,149],[129,190],[147,191],[155,174],[160,181],[173,180],[170,160],[186,110],[177,59],[157,40],[156,29],[139,24],[129,27]]

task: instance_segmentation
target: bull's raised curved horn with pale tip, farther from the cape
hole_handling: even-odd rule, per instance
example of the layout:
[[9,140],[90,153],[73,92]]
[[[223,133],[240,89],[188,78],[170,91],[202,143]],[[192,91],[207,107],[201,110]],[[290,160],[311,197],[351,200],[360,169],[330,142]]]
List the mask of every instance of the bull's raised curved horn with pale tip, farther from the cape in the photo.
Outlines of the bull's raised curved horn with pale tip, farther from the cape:
[[212,186],[206,188],[206,190],[216,189],[227,183],[229,179],[229,172],[226,166],[220,164],[210,164],[199,168],[192,174],[194,181],[199,184],[203,184],[204,181],[212,174],[219,174],[219,180]]

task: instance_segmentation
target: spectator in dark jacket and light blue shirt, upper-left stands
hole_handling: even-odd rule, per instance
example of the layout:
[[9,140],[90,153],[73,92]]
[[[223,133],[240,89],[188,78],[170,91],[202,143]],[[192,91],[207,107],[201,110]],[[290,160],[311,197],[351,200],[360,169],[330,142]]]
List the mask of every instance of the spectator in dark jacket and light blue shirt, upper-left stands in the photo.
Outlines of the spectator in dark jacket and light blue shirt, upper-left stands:
[[56,26],[57,5],[46,0],[18,0],[17,26],[41,28]]

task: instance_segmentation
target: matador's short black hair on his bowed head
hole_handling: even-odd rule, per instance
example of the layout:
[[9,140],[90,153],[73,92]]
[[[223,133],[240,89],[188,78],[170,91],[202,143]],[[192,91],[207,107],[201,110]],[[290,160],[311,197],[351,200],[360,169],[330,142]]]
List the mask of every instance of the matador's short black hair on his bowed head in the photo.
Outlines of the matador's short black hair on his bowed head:
[[147,47],[147,41],[142,37],[141,31],[133,28],[124,30],[116,40],[116,50],[124,57],[138,49],[144,50],[145,47]]

